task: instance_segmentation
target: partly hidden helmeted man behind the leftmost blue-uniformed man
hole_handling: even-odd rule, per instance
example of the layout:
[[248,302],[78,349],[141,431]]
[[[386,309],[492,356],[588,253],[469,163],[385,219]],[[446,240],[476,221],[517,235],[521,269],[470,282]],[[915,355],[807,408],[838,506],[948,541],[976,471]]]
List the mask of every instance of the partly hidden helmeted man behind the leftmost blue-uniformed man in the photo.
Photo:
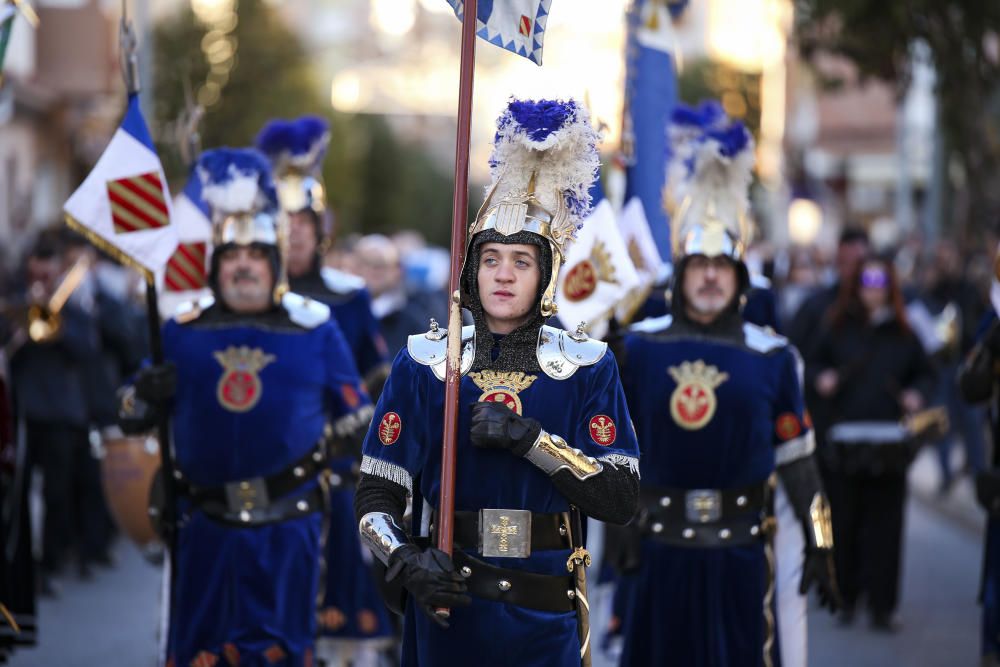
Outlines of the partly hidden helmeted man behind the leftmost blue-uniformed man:
[[[289,286],[330,307],[366,386],[378,398],[389,359],[368,291],[360,278],[322,262],[330,241],[331,216],[321,178],[329,143],[329,125],[315,116],[273,120],[257,137],[258,148],[273,165],[279,206],[288,219]],[[330,665],[374,660],[394,643],[392,620],[362,557],[351,510],[362,435],[330,438],[331,512],[317,643],[318,657]]]

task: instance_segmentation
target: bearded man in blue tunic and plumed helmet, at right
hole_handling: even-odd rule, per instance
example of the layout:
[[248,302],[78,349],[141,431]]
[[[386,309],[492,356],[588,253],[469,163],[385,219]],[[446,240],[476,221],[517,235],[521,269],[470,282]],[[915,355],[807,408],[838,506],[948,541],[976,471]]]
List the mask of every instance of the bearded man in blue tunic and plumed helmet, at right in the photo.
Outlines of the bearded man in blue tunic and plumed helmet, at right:
[[672,315],[622,342],[643,456],[637,562],[623,586],[622,665],[774,665],[773,492],[802,523],[800,590],[838,598],[829,505],[813,460],[801,362],[739,312],[753,145],[742,125],[698,139],[673,219]]

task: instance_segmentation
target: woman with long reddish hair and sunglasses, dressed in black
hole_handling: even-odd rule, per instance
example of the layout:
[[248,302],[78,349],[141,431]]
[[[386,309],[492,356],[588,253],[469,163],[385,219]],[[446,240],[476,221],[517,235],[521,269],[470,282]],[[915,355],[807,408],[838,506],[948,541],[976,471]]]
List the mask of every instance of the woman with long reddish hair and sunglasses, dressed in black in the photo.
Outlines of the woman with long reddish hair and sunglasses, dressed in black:
[[866,595],[872,627],[894,631],[912,450],[903,440],[886,442],[884,433],[924,406],[934,377],[907,323],[888,260],[866,260],[842,281],[824,322],[806,384],[834,425],[826,450],[827,489],[842,620],[853,621],[855,605]]

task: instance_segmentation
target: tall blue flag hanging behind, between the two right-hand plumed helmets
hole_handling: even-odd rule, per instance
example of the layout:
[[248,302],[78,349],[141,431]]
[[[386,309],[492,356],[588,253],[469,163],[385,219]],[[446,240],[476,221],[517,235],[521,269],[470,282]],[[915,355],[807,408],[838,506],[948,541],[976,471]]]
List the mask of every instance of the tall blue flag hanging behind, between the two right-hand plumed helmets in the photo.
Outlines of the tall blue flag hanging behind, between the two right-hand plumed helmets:
[[684,3],[636,0],[628,14],[626,141],[632,147],[624,201],[638,197],[660,255],[670,257],[670,229],[663,210],[666,128],[677,100],[672,16]]

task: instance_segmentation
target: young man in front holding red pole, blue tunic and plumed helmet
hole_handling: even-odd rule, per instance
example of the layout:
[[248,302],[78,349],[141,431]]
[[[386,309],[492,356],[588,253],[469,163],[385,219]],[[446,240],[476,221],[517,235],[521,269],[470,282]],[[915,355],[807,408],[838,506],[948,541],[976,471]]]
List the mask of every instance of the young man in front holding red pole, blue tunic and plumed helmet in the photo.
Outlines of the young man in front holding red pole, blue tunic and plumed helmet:
[[[597,135],[573,101],[512,100],[493,184],[469,230],[462,299],[473,326],[432,324],[399,353],[364,444],[360,531],[401,585],[403,664],[576,666],[567,559],[583,513],[616,523],[638,499],[637,444],[613,356],[583,328],[545,325],[559,267],[590,208]],[[407,533],[407,496],[440,490],[445,350],[462,336],[454,560]],[[434,613],[451,607],[450,629]]]

